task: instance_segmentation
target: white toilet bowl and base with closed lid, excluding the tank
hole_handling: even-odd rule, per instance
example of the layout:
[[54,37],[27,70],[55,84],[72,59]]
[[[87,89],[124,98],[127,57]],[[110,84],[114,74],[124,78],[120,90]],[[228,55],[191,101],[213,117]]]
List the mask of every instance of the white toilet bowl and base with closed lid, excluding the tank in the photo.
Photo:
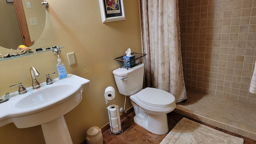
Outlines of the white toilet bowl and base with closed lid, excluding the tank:
[[167,113],[176,107],[172,94],[156,88],[145,88],[131,95],[130,100],[136,124],[154,134],[162,135],[168,132]]

